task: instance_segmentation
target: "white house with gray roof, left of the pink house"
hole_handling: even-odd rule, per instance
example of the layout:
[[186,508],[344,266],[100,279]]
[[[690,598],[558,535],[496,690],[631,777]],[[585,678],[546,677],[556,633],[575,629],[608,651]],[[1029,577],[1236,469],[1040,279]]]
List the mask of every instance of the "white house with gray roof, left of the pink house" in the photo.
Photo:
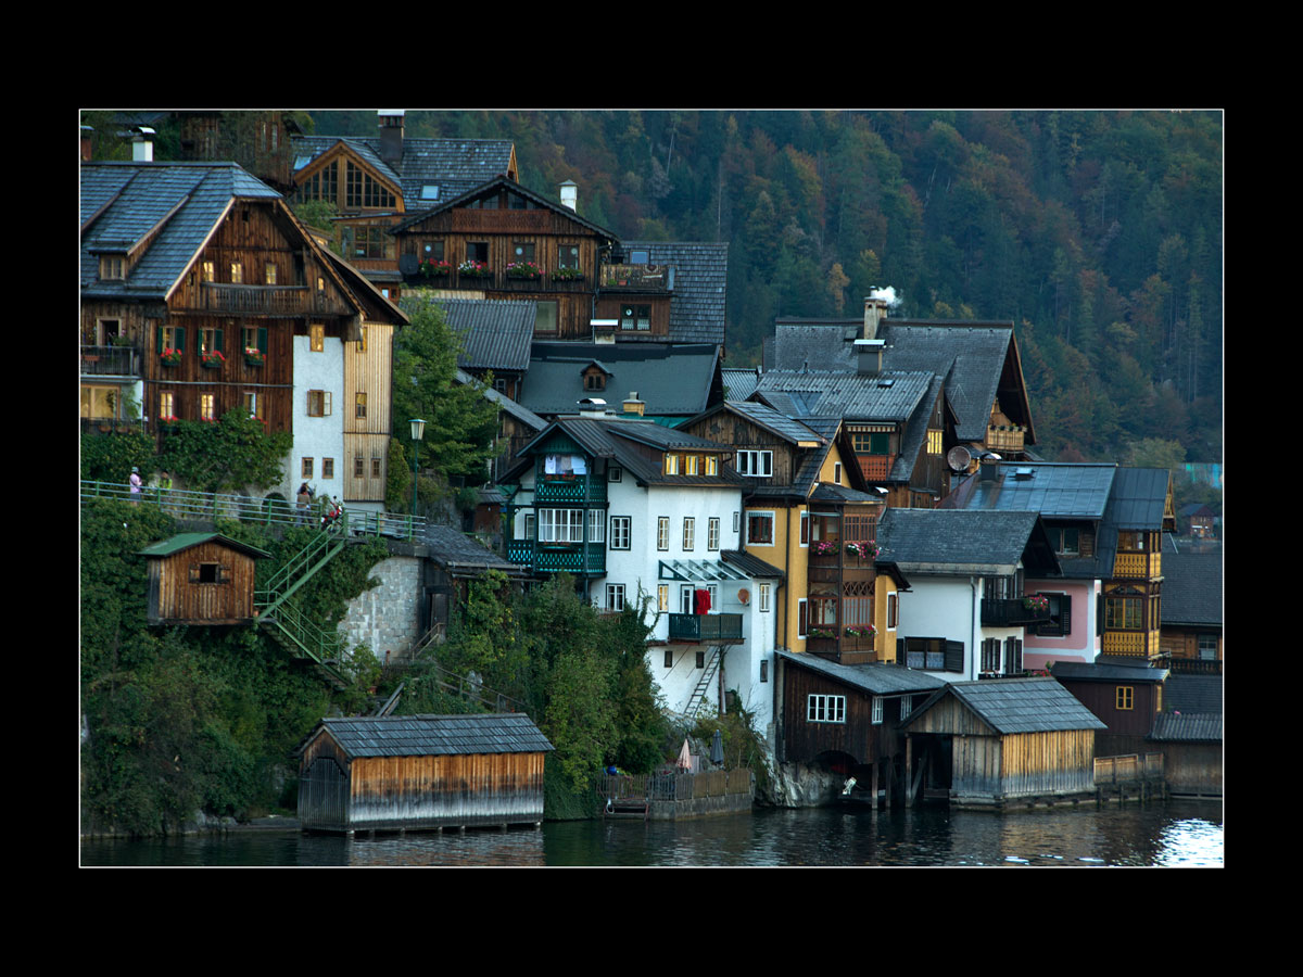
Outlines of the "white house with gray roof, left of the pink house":
[[909,581],[900,595],[896,660],[946,681],[1020,675],[1025,627],[1046,611],[1024,603],[1024,580],[1058,576],[1035,512],[890,508],[881,560]]

